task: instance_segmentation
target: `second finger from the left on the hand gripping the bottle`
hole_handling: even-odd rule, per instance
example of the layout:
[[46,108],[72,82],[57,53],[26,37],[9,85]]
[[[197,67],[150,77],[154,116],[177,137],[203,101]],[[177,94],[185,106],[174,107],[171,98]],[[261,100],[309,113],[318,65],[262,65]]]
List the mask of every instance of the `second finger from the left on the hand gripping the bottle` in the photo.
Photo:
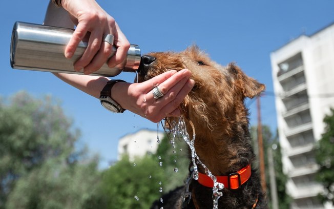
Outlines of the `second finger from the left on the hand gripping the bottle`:
[[102,32],[94,30],[89,37],[88,45],[82,56],[75,62],[74,70],[79,71],[90,64],[101,46]]

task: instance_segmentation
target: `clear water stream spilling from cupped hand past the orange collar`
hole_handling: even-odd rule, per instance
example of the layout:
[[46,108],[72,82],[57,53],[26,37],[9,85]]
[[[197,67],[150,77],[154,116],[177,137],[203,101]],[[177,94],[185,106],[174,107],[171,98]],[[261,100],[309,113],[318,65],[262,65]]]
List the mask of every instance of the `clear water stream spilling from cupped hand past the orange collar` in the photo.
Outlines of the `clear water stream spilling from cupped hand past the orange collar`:
[[[185,126],[185,121],[184,118],[181,116],[179,117],[178,121],[173,121],[172,123],[172,140],[175,139],[176,135],[179,134],[182,136],[183,140],[189,145],[190,151],[191,151],[191,155],[192,155],[192,163],[193,163],[193,168],[194,168],[194,175],[193,178],[195,180],[198,180],[198,168],[197,168],[197,163],[201,164],[204,168],[205,174],[210,177],[213,182],[214,182],[214,187],[212,189],[212,199],[213,199],[213,203],[214,203],[214,207],[213,209],[218,209],[218,199],[223,196],[223,193],[220,192],[220,190],[224,189],[224,184],[217,182],[217,178],[216,176],[212,175],[212,173],[210,172],[210,170],[208,170],[208,168],[205,166],[204,163],[201,162],[201,160],[199,159],[199,157],[196,154],[195,151],[195,147],[194,147],[194,143],[195,143],[195,130],[193,131],[193,139],[190,140],[190,136],[186,131],[186,126]],[[194,127],[193,127],[194,129]],[[196,163],[197,160],[197,163]]]

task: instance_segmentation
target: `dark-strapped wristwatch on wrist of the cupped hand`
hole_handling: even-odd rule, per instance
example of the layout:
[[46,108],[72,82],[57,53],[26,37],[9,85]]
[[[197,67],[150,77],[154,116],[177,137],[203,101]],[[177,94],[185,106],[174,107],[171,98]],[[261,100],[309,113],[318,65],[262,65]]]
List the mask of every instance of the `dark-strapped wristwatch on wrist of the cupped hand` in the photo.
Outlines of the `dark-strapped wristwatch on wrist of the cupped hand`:
[[100,94],[100,102],[103,107],[113,113],[123,113],[125,110],[111,98],[111,89],[117,82],[126,82],[124,80],[109,80]]

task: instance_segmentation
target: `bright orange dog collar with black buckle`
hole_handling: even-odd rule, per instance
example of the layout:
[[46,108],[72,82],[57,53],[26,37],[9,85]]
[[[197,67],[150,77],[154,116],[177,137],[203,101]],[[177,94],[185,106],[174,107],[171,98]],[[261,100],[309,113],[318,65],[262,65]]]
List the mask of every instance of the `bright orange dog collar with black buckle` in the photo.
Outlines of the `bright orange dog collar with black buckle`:
[[[239,170],[236,173],[229,174],[228,176],[216,176],[217,181],[223,183],[225,188],[237,190],[245,183],[249,177],[251,177],[251,165],[247,165],[245,168]],[[214,187],[213,180],[206,174],[198,173],[198,183],[207,187]]]

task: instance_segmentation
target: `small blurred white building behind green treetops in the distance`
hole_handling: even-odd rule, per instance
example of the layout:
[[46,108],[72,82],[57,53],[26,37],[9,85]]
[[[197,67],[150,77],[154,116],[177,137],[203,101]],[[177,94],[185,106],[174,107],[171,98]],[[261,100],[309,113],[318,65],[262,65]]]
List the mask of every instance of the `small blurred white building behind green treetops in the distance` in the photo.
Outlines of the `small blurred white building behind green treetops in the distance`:
[[[162,140],[164,132],[159,132],[159,140]],[[158,132],[150,130],[140,130],[133,134],[127,134],[118,141],[118,155],[120,160],[122,155],[127,154],[133,161],[135,157],[143,157],[147,153],[155,153],[158,149]]]

